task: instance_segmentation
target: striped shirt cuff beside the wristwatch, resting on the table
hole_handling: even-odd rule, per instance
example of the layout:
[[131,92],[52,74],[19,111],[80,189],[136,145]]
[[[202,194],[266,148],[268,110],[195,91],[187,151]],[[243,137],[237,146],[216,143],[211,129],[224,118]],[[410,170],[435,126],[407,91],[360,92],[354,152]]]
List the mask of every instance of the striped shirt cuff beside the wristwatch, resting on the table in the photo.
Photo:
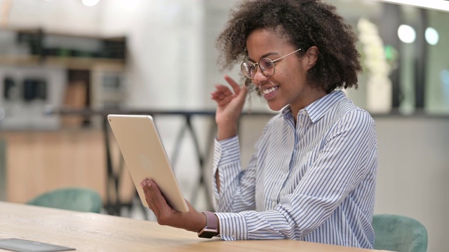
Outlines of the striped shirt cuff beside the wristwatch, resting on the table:
[[242,213],[214,213],[220,222],[220,237],[225,241],[248,239],[248,228]]

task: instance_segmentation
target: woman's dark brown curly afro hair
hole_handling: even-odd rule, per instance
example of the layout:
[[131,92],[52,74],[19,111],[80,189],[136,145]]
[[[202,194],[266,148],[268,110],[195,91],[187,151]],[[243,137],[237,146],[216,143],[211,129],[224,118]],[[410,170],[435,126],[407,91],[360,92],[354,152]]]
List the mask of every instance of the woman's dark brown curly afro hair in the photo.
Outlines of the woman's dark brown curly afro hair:
[[[330,93],[338,88],[358,87],[362,71],[352,27],[321,0],[244,0],[231,12],[225,29],[217,38],[222,52],[222,70],[248,59],[246,38],[256,29],[272,29],[304,54],[313,45],[319,48],[314,67],[307,71],[307,83]],[[246,85],[251,81],[246,80]]]

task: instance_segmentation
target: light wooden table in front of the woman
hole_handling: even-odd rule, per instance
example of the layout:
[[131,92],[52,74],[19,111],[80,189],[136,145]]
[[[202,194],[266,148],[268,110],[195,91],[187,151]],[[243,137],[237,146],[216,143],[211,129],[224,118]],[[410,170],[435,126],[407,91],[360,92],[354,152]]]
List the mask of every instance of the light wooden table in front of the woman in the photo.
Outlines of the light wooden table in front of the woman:
[[151,221],[0,202],[0,239],[3,238],[29,239],[73,247],[76,251],[374,251],[293,240],[201,239],[194,232]]

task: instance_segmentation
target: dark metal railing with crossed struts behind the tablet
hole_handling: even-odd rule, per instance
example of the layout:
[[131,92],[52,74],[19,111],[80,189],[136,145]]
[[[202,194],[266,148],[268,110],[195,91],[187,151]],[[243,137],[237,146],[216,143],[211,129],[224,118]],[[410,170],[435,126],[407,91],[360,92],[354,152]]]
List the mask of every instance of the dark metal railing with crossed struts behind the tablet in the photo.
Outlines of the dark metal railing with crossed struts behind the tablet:
[[[216,124],[215,120],[211,122],[210,129],[208,132],[208,139],[206,143],[205,152],[201,152],[199,137],[194,130],[194,126],[192,124],[192,118],[194,117],[206,117],[210,120],[215,119],[215,111],[213,110],[201,110],[201,111],[182,111],[182,110],[123,110],[123,109],[59,109],[58,111],[48,111],[49,114],[59,114],[61,116],[82,116],[82,117],[91,117],[91,116],[101,116],[102,117],[102,132],[105,139],[105,152],[106,152],[106,172],[107,172],[107,183],[106,183],[106,202],[104,204],[105,210],[107,214],[121,216],[121,208],[122,207],[133,207],[132,202],[123,202],[120,197],[119,188],[121,185],[121,174],[123,172],[123,158],[121,158],[121,162],[119,162],[119,167],[114,167],[113,165],[113,157],[111,152],[111,144],[112,140],[110,138],[110,127],[107,121],[107,115],[109,114],[133,114],[133,115],[150,115],[156,118],[160,116],[181,116],[185,119],[185,123],[182,125],[180,131],[177,133],[175,149],[173,150],[170,162],[172,166],[175,167],[175,163],[177,162],[177,157],[180,152],[180,146],[182,145],[182,141],[184,141],[186,133],[189,132],[194,141],[194,150],[196,153],[196,160],[199,162],[199,179],[198,183],[194,183],[195,188],[192,190],[192,197],[190,197],[190,203],[195,204],[197,200],[197,196],[199,194],[199,189],[203,188],[206,193],[206,204],[207,208],[205,210],[213,211],[213,204],[211,202],[210,192],[206,185],[206,180],[204,179],[204,174],[206,171],[206,167],[204,167],[207,158],[210,157],[210,154],[213,151],[213,143],[216,132]],[[242,113],[242,116],[274,116],[273,113],[269,112],[248,112]],[[135,197],[138,198],[137,190],[135,193]],[[143,204],[140,204],[142,211],[144,212],[144,217],[147,218],[145,214],[145,208]]]

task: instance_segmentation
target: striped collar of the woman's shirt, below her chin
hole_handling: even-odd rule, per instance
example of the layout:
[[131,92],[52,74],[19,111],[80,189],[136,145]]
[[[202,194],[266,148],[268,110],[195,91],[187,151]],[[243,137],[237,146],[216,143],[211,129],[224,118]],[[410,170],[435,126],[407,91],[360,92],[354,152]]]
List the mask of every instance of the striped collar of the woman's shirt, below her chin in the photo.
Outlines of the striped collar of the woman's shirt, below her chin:
[[[307,115],[309,115],[311,122],[315,123],[318,120],[320,120],[324,115],[326,115],[329,109],[332,108],[337,102],[339,102],[342,99],[347,99],[346,94],[344,94],[342,90],[337,90],[331,92],[330,94],[326,94],[320,99],[317,99],[315,102],[312,102],[311,104],[307,105],[304,109],[301,109],[299,113],[302,113],[302,111],[306,111]],[[282,116],[286,120],[292,118],[293,115],[290,106],[286,106],[282,109]],[[297,116],[298,115],[296,115],[296,117]]]

